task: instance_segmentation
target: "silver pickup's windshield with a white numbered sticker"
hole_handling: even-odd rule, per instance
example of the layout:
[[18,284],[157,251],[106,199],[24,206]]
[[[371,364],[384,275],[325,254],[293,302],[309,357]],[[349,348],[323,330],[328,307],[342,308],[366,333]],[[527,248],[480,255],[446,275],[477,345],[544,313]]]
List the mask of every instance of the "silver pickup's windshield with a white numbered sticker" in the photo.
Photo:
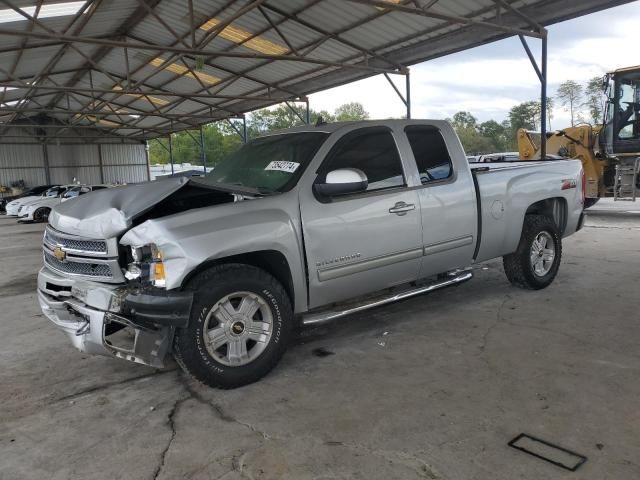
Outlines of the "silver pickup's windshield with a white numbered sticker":
[[260,193],[286,192],[293,188],[328,136],[305,132],[258,138],[223,160],[204,181],[238,185]]

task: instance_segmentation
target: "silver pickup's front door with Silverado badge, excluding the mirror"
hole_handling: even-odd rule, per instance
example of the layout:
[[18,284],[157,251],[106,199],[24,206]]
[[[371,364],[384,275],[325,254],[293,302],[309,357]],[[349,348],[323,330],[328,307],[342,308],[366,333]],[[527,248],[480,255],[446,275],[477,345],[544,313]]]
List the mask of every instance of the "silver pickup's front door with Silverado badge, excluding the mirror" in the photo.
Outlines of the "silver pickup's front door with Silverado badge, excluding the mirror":
[[391,130],[347,133],[323,161],[316,182],[340,168],[368,178],[366,191],[321,197],[301,192],[311,308],[416,280],[422,258],[420,200],[407,188]]

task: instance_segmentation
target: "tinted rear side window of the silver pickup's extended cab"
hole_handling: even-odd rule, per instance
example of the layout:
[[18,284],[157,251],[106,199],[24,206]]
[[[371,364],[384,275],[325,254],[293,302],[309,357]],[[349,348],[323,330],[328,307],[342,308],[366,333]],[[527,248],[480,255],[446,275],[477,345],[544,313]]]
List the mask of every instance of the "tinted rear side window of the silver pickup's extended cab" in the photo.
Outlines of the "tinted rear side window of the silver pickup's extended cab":
[[409,126],[405,129],[423,185],[445,180],[453,175],[447,144],[438,129]]

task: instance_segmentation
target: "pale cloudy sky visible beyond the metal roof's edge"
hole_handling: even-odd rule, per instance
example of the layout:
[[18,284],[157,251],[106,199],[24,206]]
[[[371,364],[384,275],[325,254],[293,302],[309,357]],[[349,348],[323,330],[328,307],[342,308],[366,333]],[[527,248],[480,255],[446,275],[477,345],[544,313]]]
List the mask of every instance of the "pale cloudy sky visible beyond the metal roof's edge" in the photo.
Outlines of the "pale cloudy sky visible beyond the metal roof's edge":
[[[566,80],[586,83],[617,68],[640,65],[640,1],[548,27],[548,96]],[[540,41],[528,39],[536,58]],[[404,77],[397,76],[404,92]],[[517,37],[483,45],[411,67],[413,118],[441,119],[459,111],[479,121],[502,121],[514,105],[539,100],[540,82]],[[377,75],[309,97],[314,110],[333,111],[360,102],[370,118],[400,117],[402,101]],[[569,124],[569,113],[555,102],[552,128]]]

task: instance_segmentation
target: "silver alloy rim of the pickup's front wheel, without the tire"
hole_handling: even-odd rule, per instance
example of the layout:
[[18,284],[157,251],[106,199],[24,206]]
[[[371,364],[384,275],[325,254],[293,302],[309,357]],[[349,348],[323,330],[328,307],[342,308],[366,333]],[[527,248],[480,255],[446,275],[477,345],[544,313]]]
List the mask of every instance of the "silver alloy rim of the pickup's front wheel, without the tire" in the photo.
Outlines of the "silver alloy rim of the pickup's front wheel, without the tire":
[[218,300],[204,321],[209,355],[238,367],[264,352],[273,334],[273,315],[266,300],[251,292],[234,292]]

